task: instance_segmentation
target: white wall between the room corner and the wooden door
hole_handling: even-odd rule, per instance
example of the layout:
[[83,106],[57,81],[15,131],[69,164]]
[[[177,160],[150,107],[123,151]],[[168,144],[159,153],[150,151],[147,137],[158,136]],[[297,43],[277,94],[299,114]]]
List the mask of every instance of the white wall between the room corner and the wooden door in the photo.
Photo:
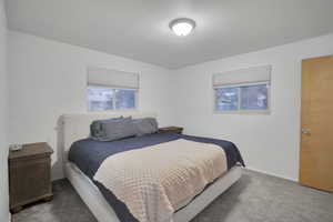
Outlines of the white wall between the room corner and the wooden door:
[[[297,180],[301,60],[333,53],[333,34],[188,67],[173,73],[176,122],[185,133],[226,139],[249,168]],[[270,115],[214,114],[214,72],[272,64]]]

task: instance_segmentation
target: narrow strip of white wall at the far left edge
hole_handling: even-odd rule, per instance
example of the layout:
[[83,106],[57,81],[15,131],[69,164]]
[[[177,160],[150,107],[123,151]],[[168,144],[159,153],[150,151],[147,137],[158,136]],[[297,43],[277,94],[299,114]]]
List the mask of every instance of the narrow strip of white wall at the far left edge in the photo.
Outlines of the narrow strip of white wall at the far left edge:
[[0,221],[9,221],[8,202],[8,92],[7,92],[7,20],[3,0],[0,0]]

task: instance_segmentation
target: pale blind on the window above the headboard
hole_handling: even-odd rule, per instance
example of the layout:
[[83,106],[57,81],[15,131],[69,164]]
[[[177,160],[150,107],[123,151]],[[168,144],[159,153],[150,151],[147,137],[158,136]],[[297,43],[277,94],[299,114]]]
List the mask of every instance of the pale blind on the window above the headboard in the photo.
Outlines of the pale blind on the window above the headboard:
[[139,89],[139,74],[102,68],[88,68],[88,84],[108,88]]

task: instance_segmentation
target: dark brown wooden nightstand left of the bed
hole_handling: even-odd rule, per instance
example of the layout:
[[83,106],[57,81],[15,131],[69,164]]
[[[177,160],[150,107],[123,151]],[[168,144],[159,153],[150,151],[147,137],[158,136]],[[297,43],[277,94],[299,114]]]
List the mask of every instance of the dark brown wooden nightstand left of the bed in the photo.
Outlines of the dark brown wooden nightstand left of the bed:
[[23,145],[9,152],[9,195],[12,213],[39,200],[52,200],[51,154],[48,143]]

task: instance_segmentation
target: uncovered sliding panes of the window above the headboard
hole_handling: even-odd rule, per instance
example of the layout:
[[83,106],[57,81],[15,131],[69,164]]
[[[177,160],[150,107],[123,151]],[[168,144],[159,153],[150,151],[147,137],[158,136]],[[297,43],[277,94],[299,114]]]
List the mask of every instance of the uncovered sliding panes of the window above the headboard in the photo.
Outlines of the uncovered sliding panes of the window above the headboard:
[[137,109],[137,92],[138,90],[134,89],[112,89],[89,85],[89,110],[105,111]]

